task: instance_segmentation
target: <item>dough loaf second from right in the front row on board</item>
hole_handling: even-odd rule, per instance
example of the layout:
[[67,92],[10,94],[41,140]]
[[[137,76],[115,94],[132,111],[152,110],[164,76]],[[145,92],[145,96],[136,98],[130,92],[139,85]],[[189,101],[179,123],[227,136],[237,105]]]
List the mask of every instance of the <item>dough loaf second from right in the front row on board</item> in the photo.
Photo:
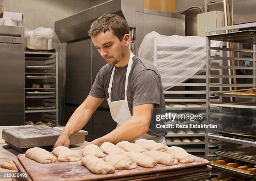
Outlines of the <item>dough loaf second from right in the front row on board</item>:
[[162,151],[150,150],[146,151],[145,154],[156,160],[157,163],[163,165],[177,165],[179,162],[175,159],[173,154],[165,153]]

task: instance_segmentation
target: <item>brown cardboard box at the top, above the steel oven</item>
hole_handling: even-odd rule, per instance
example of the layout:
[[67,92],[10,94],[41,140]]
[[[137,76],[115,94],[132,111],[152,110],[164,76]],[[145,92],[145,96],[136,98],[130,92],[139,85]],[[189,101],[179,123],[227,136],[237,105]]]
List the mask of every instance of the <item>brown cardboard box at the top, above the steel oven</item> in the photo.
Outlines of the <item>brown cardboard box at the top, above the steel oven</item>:
[[175,0],[144,0],[144,8],[175,13]]

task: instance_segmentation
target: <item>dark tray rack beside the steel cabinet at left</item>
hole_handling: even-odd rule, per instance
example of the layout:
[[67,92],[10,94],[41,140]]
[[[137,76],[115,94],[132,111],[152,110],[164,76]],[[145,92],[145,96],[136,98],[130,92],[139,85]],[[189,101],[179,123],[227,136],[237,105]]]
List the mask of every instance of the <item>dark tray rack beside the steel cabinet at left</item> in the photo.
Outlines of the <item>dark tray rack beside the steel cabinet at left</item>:
[[58,52],[25,51],[25,121],[58,123]]

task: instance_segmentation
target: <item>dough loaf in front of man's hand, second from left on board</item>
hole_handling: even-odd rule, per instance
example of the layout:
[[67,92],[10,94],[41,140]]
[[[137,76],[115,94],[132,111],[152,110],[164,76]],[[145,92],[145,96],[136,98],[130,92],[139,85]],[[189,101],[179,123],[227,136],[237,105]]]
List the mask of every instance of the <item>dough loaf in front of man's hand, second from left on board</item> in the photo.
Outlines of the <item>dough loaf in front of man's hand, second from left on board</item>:
[[53,149],[52,153],[58,156],[58,161],[79,161],[80,156],[66,146],[58,146]]

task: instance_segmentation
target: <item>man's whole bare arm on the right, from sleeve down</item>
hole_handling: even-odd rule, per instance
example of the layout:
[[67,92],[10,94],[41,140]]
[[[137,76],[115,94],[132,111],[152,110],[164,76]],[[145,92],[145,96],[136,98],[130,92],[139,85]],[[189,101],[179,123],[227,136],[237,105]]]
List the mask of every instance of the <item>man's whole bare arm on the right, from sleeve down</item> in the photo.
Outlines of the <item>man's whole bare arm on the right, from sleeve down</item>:
[[100,146],[105,141],[111,143],[118,143],[120,141],[133,141],[141,135],[148,132],[148,128],[151,123],[151,110],[154,108],[154,104],[142,104],[133,107],[133,116],[130,120],[123,123],[118,128],[102,136],[91,144],[97,144]]

